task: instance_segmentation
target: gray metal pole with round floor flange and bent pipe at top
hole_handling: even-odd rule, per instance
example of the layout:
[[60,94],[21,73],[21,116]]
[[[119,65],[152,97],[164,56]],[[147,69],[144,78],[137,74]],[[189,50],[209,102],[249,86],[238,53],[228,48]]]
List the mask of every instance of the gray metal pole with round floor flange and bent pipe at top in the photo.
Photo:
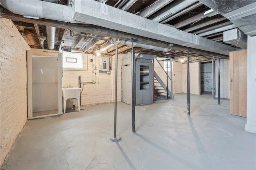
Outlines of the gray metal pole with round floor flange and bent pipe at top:
[[108,41],[116,46],[116,71],[115,71],[115,109],[114,109],[114,138],[110,138],[112,142],[118,142],[121,140],[121,137],[116,137],[116,107],[117,107],[117,73],[118,73],[118,45],[116,43],[116,39],[114,38],[114,41],[111,39],[105,39],[105,38],[100,38],[100,37],[94,37],[92,35],[86,35],[82,33],[74,34],[72,30],[70,30],[70,36],[71,37],[86,37],[86,38],[93,38],[93,39],[99,39],[103,41]]

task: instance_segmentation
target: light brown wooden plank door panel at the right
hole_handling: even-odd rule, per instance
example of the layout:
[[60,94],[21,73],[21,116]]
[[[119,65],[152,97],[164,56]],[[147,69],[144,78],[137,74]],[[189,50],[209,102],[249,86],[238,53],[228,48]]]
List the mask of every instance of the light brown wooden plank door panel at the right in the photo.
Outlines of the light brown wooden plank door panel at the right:
[[246,117],[247,50],[232,51],[230,59],[230,114]]

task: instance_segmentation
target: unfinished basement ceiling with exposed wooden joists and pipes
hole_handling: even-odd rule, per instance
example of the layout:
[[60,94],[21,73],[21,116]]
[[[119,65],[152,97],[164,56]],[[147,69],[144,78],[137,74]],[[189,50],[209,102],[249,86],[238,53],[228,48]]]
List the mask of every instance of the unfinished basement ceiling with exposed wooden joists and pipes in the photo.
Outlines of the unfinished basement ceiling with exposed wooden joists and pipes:
[[[58,3],[65,6],[72,6],[75,0],[47,0],[47,2]],[[204,2],[196,0],[97,0],[98,2],[105,3],[108,6],[118,8],[120,10],[127,11],[131,14],[148,18],[149,20],[163,23],[170,27],[175,27],[179,30],[199,35],[211,41],[222,43],[235,49],[240,49],[235,45],[225,43],[223,41],[223,32],[229,29],[236,28],[236,23],[232,23],[232,20],[228,20],[224,16],[224,10],[218,7],[214,7],[214,10],[210,11],[210,5],[205,6]],[[213,0],[213,2],[215,2]],[[221,0],[221,2],[227,2]],[[250,0],[248,4],[255,3],[256,1]],[[241,4],[240,0],[232,0],[230,3]],[[220,1],[218,1],[220,4]],[[244,4],[244,3],[243,3]],[[235,6],[239,9],[239,6]],[[206,14],[207,13],[207,14]],[[220,13],[220,14],[219,14]],[[222,15],[224,16],[222,16]],[[113,29],[103,28],[96,25],[86,23],[65,23],[61,21],[52,21],[47,19],[33,19],[24,18],[18,14],[6,10],[1,6],[1,17],[11,19],[24,37],[28,45],[31,48],[36,49],[48,49],[48,37],[46,33],[46,25],[56,27],[54,49],[56,51],[80,52],[80,53],[96,53],[100,51],[103,56],[115,55],[115,47],[109,44],[107,41],[85,38],[85,37],[72,37],[70,36],[70,29],[74,31],[74,34],[82,33],[86,35],[92,35],[104,39],[116,38],[124,39],[131,36],[120,31]],[[252,16],[253,19],[254,16]],[[250,20],[248,20],[250,21]],[[245,22],[245,21],[244,21]],[[252,21],[251,21],[252,22]],[[134,22],[134,24],[137,24]],[[252,28],[255,27],[255,21],[252,24]],[[239,25],[238,25],[239,26]],[[248,28],[248,26],[246,27]],[[138,36],[136,36],[138,37]],[[127,39],[127,38],[126,38]],[[212,60],[212,56],[228,57],[227,55],[221,55],[218,53],[212,53],[208,51],[198,50],[193,48],[184,47],[182,45],[170,44],[165,41],[156,39],[149,39],[145,37],[138,37],[142,39],[144,44],[149,44],[157,47],[169,48],[170,51],[158,51],[158,49],[148,49],[145,47],[134,47],[136,53],[152,53],[157,57],[172,58],[173,61],[180,61],[182,58],[186,58],[189,54],[191,61],[204,62]],[[139,40],[138,40],[139,41]],[[119,41],[118,41],[119,42]],[[233,43],[234,44],[234,43]],[[118,53],[127,53],[131,51],[130,45],[118,43]]]

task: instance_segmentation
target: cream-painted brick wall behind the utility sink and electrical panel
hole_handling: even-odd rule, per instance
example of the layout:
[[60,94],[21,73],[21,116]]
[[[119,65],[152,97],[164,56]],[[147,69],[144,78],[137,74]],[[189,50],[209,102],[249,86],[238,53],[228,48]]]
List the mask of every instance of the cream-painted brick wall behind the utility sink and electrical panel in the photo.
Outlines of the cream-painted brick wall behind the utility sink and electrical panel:
[[[81,76],[81,82],[94,83],[84,84],[81,94],[81,106],[114,102],[115,58],[115,56],[110,57],[112,68],[110,74],[99,74],[99,57],[92,54],[83,54],[83,70],[63,69],[62,87],[78,87],[78,76]],[[118,55],[118,102],[122,99],[122,59],[123,55]],[[67,100],[66,107],[73,107],[73,103]]]

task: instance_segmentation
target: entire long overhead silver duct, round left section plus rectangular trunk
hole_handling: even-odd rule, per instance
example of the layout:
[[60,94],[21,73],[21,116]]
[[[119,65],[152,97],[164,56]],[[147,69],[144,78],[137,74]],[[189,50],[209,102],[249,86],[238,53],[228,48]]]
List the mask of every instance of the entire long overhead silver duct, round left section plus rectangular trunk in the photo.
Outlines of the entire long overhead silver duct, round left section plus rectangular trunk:
[[4,8],[20,15],[26,14],[27,16],[72,23],[88,23],[223,55],[229,55],[230,51],[236,50],[228,45],[148,20],[94,0],[76,0],[72,7],[40,0],[0,0],[0,3]]

